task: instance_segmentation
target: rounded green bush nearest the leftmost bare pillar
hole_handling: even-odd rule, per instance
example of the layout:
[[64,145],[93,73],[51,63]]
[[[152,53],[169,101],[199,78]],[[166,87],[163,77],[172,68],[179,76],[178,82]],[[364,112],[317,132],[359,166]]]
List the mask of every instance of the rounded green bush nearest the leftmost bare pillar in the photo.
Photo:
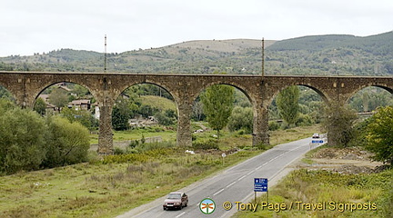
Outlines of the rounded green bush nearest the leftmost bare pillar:
[[50,140],[43,165],[45,167],[64,166],[87,161],[90,148],[89,133],[85,126],[77,122],[70,123],[60,116],[47,119]]

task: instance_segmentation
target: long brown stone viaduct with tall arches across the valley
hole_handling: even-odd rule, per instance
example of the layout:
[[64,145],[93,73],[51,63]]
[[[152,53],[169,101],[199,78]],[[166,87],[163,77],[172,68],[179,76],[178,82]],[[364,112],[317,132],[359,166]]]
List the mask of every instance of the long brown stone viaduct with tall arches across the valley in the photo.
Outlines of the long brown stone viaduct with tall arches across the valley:
[[98,153],[113,152],[112,108],[117,96],[134,84],[156,84],[175,99],[177,107],[177,145],[191,145],[190,116],[196,97],[209,85],[229,84],[247,95],[253,105],[253,144],[269,143],[268,106],[281,90],[304,85],[320,94],[329,104],[345,104],[360,89],[378,86],[393,94],[393,76],[302,76],[238,74],[123,74],[123,73],[38,73],[0,72],[0,85],[14,95],[16,104],[33,108],[46,87],[60,83],[85,86],[100,107]]

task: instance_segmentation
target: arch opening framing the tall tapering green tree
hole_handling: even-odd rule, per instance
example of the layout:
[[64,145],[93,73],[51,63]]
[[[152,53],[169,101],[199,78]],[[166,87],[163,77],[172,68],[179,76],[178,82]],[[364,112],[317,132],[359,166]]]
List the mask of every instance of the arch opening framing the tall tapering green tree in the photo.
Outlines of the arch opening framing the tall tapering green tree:
[[[232,100],[231,97],[227,98],[219,94],[219,92],[231,94]],[[217,98],[215,98],[215,95],[217,95]],[[226,98],[226,100],[222,98]],[[209,103],[208,99],[213,104]],[[217,101],[217,103],[214,104],[214,101]],[[227,105],[220,105],[226,101],[229,101]],[[227,113],[227,108],[225,107],[228,107],[228,105],[232,108],[229,110],[229,114],[227,114],[227,121],[225,121],[225,116],[219,116],[218,114]],[[255,116],[253,106],[247,92],[234,84],[218,83],[207,85],[197,94],[193,102],[191,115],[193,144],[196,146],[205,144],[207,146],[209,141],[212,142],[212,140],[220,138],[219,144],[226,144],[232,147],[251,146]],[[214,117],[210,119],[213,121],[208,122],[209,115],[207,113],[212,110],[214,111],[212,113]],[[223,124],[219,124],[220,119]],[[239,135],[241,137],[238,137]]]

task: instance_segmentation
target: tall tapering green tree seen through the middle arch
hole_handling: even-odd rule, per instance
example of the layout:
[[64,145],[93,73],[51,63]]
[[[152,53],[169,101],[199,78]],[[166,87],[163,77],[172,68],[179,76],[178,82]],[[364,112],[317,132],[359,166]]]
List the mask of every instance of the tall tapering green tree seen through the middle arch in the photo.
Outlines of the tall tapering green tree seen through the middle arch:
[[207,122],[214,130],[217,130],[218,137],[219,131],[227,125],[229,116],[232,114],[234,94],[234,87],[223,84],[211,85],[205,93],[201,94]]

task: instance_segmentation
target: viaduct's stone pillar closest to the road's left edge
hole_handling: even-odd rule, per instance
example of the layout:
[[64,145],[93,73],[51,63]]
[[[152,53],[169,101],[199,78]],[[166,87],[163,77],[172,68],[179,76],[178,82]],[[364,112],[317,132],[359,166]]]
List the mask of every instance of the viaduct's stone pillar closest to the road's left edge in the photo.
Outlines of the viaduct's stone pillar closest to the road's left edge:
[[254,106],[253,146],[270,144],[268,134],[268,108],[262,103]]

